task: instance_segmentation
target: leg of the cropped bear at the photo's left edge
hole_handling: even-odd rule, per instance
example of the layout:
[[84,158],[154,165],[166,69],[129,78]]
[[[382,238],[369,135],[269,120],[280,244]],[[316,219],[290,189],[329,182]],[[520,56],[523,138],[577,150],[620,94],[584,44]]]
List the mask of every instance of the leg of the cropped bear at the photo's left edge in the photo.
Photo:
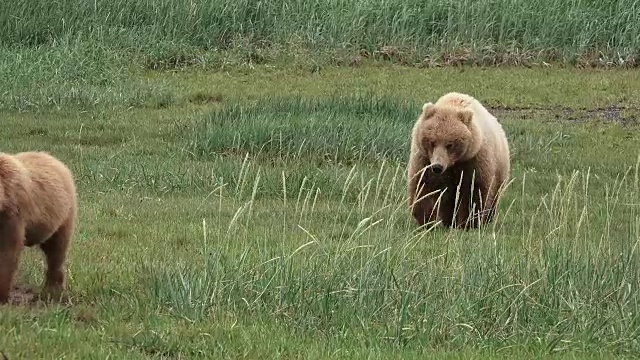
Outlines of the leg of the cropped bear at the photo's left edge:
[[11,218],[2,219],[0,225],[0,304],[9,302],[20,254],[24,248],[24,227]]

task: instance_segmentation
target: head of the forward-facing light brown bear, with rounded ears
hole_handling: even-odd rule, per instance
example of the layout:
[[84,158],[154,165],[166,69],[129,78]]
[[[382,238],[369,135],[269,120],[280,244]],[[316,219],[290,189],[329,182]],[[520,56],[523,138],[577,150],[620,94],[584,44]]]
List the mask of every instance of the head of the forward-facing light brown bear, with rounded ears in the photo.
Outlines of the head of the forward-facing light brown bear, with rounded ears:
[[435,174],[473,158],[482,143],[473,112],[468,109],[425,103],[417,130],[415,140]]

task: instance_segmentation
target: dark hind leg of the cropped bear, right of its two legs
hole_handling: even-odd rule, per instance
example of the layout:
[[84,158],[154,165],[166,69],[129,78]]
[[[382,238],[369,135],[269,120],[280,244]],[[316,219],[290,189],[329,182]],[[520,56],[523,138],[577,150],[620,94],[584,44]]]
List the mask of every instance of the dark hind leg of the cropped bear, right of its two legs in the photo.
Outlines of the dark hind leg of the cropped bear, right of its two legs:
[[65,286],[64,263],[73,228],[74,217],[71,216],[49,239],[40,244],[40,249],[44,252],[47,263],[43,290],[45,295],[56,299],[62,295]]

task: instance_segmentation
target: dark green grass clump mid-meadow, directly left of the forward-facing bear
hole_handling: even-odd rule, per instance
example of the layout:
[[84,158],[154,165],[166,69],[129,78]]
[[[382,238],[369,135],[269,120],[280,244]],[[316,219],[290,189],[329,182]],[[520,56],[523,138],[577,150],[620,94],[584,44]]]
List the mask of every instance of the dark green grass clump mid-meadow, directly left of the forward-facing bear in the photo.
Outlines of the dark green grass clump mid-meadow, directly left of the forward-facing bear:
[[186,149],[197,158],[249,152],[314,164],[406,160],[419,114],[419,104],[379,96],[231,103],[190,128]]

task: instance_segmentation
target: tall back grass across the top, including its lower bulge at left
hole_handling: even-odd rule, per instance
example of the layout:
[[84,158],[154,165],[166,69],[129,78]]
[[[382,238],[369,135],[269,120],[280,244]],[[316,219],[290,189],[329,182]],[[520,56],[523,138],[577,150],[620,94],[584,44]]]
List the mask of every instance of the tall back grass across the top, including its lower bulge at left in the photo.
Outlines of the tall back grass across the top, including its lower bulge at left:
[[169,106],[132,74],[374,63],[635,68],[620,1],[43,1],[0,4],[0,109]]

